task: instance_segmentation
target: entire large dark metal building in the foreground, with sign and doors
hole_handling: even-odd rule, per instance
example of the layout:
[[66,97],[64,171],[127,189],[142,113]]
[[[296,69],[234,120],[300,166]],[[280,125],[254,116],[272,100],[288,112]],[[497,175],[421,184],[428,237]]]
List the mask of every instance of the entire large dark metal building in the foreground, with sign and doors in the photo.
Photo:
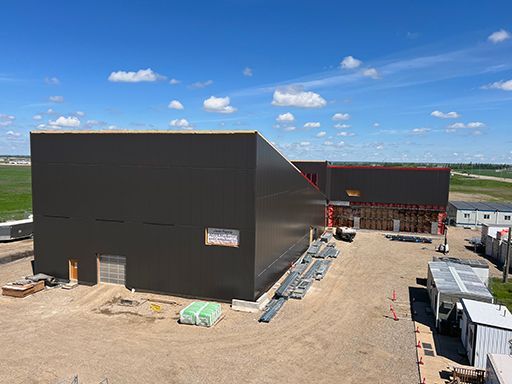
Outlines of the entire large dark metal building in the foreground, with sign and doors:
[[246,132],[31,133],[36,272],[254,300],[324,226],[324,195]]

